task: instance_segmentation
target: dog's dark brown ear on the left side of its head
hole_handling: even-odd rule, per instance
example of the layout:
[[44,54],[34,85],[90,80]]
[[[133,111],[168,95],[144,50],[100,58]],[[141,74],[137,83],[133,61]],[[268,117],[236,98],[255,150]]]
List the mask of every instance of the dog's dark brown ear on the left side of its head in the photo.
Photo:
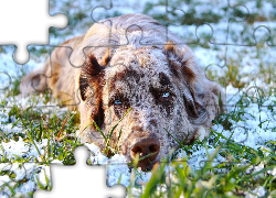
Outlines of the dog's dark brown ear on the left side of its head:
[[[99,75],[104,70],[104,67],[100,66],[96,59],[96,57],[91,54],[86,59],[86,63],[81,68],[79,75],[79,94],[81,99],[84,101],[88,95],[88,88],[94,87],[94,82],[98,82]],[[89,92],[95,92],[91,90]]]

